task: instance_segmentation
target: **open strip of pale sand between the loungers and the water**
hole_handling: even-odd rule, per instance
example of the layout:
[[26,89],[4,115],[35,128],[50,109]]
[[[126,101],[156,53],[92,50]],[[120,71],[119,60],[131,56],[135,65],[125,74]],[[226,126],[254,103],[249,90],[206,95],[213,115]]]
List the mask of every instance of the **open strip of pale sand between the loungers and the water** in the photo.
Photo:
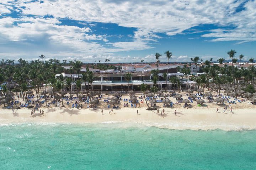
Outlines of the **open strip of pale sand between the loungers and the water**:
[[[0,125],[28,124],[28,123],[56,123],[56,124],[122,124],[129,127],[132,124],[153,126],[174,130],[224,130],[241,131],[256,130],[255,109],[236,109],[234,114],[216,113],[215,109],[205,108],[164,108],[165,116],[157,114],[156,111],[147,111],[146,108],[122,108],[113,110],[76,109],[76,108],[41,108],[45,116],[30,117],[30,109],[18,109],[12,114],[11,110],[0,110]],[[136,111],[138,109],[139,114]],[[162,109],[162,108],[161,108]],[[177,116],[174,110],[177,109]],[[8,111],[9,113],[6,113]],[[111,125],[110,125],[111,126]]]

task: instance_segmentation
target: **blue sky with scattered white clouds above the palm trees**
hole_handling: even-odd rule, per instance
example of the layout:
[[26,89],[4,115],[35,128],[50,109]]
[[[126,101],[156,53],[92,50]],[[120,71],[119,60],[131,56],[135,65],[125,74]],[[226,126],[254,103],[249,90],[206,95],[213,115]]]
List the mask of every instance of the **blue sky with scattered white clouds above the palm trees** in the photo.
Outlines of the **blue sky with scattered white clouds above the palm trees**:
[[256,58],[255,0],[0,0],[0,59]]

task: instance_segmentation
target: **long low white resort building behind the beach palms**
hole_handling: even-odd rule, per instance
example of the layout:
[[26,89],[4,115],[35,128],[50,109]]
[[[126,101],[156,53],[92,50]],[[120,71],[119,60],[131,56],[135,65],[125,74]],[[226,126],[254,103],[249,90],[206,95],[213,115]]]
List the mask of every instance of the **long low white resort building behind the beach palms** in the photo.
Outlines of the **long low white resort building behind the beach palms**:
[[[76,80],[78,78],[82,77],[82,73],[86,72],[86,68],[82,67],[80,70],[80,74],[70,74],[69,69],[71,66],[62,66],[65,70],[64,77],[70,77],[73,80]],[[177,88],[177,85],[174,83],[171,83],[169,81],[170,77],[176,76],[179,77],[181,80],[181,86],[179,89],[186,88],[186,85],[188,84],[189,88],[191,86],[195,86],[196,82],[190,81],[184,78],[183,73],[177,72],[178,67],[183,67],[181,64],[169,64],[168,69],[168,78],[167,78],[167,89],[174,89]],[[138,69],[140,68],[140,69]],[[95,91],[127,91],[128,90],[128,82],[124,78],[125,74],[127,72],[132,74],[131,80],[129,81],[129,90],[140,90],[140,85],[142,83],[147,84],[149,87],[153,87],[153,77],[151,75],[151,71],[156,69],[156,66],[150,66],[150,65],[133,65],[133,64],[124,64],[120,67],[119,70],[99,70],[99,69],[92,69],[89,68],[90,71],[94,73],[95,79],[92,83],[92,89]],[[159,86],[160,90],[165,89],[165,79],[162,77],[162,73],[165,73],[167,71],[167,65],[162,65],[158,67],[159,69],[159,77],[158,77],[158,83],[157,86]],[[137,70],[137,71],[136,71]],[[139,70],[139,71],[138,71]],[[55,75],[55,77],[58,77],[59,75]],[[80,89],[84,90],[86,88],[90,88],[90,84],[88,82],[83,82]],[[73,90],[75,88],[75,85],[71,85],[71,89]]]

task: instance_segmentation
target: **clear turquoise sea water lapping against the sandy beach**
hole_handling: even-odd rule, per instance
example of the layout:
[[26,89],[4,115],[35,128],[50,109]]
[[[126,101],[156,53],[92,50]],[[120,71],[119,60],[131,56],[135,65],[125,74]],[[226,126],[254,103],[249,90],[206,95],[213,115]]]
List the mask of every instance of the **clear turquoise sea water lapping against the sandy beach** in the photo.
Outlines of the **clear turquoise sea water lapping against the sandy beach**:
[[256,131],[126,124],[0,126],[0,169],[255,170]]

